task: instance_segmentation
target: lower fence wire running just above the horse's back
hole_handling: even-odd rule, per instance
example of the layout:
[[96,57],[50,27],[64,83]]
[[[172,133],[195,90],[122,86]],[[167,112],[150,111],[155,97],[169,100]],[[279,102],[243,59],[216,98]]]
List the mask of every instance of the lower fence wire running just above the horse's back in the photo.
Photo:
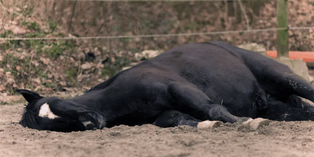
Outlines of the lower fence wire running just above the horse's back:
[[117,39],[117,38],[148,38],[148,37],[169,37],[169,36],[192,36],[192,35],[215,35],[215,34],[232,34],[232,33],[250,33],[276,30],[311,30],[311,27],[288,27],[288,28],[266,28],[256,30],[230,30],[216,32],[198,32],[198,33],[178,33],[178,34],[153,34],[153,35],[116,35],[116,36],[83,36],[83,37],[43,37],[43,38],[0,38],[0,40],[71,40],[71,39]]

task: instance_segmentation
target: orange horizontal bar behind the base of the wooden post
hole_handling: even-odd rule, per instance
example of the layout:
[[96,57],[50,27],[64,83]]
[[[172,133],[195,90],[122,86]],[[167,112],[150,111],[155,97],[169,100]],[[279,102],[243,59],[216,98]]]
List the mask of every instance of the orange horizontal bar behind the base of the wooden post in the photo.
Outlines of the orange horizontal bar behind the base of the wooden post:
[[[267,51],[269,57],[277,57],[277,51]],[[314,62],[314,52],[309,51],[289,51],[289,58],[302,59],[304,62]]]

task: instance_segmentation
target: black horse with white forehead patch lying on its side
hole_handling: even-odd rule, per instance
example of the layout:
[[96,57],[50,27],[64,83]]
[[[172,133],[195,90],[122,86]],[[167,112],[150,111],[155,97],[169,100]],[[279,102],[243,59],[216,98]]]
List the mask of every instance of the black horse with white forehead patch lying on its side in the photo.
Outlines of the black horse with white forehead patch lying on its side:
[[300,98],[314,102],[305,79],[222,41],[172,48],[70,99],[16,91],[28,101],[19,123],[38,130],[314,120],[314,107]]

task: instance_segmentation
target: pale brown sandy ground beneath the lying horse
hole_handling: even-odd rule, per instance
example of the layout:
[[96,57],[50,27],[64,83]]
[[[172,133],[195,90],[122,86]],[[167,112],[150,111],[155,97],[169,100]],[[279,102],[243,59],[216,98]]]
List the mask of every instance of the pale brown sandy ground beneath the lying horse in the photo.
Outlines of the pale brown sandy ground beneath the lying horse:
[[1,157],[55,156],[314,156],[314,122],[271,122],[198,129],[187,126],[116,126],[57,133],[23,128],[23,104],[0,106]]

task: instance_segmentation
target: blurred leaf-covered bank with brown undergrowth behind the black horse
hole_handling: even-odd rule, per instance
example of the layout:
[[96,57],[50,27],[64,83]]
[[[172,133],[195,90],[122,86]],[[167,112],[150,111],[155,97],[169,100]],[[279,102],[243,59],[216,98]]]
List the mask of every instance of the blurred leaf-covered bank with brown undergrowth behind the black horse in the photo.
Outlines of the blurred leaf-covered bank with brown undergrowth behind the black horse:
[[[0,0],[0,5],[0,37],[151,35],[277,27],[276,0],[241,3]],[[312,26],[313,5],[309,0],[289,0],[289,26]],[[13,94],[14,89],[26,88],[44,93],[76,93],[148,59],[139,55],[145,50],[164,51],[212,40],[233,45],[258,43],[267,50],[276,50],[276,33],[0,40],[0,92]],[[289,50],[313,51],[313,39],[313,30],[289,31]]]

